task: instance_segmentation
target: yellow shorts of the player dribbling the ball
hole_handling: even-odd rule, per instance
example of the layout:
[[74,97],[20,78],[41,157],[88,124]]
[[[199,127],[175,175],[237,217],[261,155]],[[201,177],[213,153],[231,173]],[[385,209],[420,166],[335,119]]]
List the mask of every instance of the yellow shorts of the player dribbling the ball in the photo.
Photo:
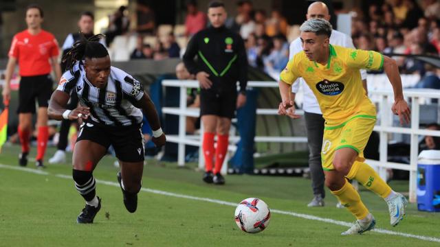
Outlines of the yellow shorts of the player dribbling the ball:
[[333,158],[336,150],[341,148],[352,148],[358,152],[356,160],[365,161],[364,148],[369,141],[375,123],[376,117],[372,115],[354,115],[336,126],[327,125],[326,121],[321,150],[322,169],[325,171],[335,169]]

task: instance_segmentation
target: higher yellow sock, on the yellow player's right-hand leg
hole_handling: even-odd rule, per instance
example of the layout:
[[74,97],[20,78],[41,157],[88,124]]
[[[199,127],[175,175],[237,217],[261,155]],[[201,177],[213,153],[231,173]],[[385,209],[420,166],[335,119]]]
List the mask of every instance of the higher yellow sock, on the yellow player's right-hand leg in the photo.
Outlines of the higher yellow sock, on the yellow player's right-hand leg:
[[391,193],[391,187],[366,163],[355,161],[346,177],[358,180],[366,189],[373,191],[382,198],[386,198]]

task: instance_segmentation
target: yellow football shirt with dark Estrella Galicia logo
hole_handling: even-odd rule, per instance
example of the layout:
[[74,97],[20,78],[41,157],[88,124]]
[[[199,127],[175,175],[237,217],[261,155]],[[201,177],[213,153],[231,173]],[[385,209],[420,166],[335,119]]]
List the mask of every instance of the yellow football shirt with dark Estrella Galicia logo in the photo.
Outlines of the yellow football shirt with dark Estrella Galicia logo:
[[383,64],[384,57],[376,51],[330,45],[326,65],[310,61],[301,51],[287,63],[280,80],[292,84],[302,77],[318,99],[323,117],[343,121],[360,111],[375,113],[375,106],[360,83],[359,70],[380,70]]

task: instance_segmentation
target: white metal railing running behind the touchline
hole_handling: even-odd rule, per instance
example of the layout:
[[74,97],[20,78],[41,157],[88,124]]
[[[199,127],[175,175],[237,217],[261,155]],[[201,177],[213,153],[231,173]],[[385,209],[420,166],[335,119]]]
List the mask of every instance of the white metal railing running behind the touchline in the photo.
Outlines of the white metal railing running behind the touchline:
[[[163,86],[175,86],[180,88],[179,108],[164,107],[162,112],[171,115],[179,115],[179,134],[167,135],[167,141],[178,144],[179,166],[185,165],[185,145],[196,145],[201,147],[203,124],[199,135],[186,135],[186,117],[199,117],[198,108],[186,107],[186,92],[188,88],[199,87],[196,80],[163,80]],[[277,82],[248,82],[248,88],[252,87],[278,87]],[[424,99],[440,99],[440,91],[436,90],[408,90],[404,91],[404,96],[411,104],[411,124],[410,128],[393,127],[393,114],[391,106],[393,104],[393,91],[388,90],[369,90],[369,95],[373,96],[373,101],[378,105],[378,119],[374,130],[380,133],[380,160],[367,160],[369,165],[375,167],[382,178],[386,178],[386,169],[401,169],[410,172],[409,198],[410,202],[415,202],[417,189],[417,156],[419,152],[419,135],[430,135],[440,137],[440,130],[421,130],[419,129],[420,104]],[[426,100],[424,100],[426,101]],[[429,100],[428,100],[429,101]],[[297,110],[298,115],[303,115],[303,110]],[[278,109],[257,109],[257,115],[278,115]],[[388,134],[410,134],[410,165],[404,163],[388,162]],[[235,145],[239,141],[239,137],[230,137],[230,146],[228,150],[234,151]],[[285,142],[285,143],[307,143],[307,137],[261,137],[256,136],[256,142]],[[225,158],[225,163],[228,157]],[[203,168],[203,154],[199,149],[199,167]],[[223,165],[222,173],[225,174],[227,165]]]

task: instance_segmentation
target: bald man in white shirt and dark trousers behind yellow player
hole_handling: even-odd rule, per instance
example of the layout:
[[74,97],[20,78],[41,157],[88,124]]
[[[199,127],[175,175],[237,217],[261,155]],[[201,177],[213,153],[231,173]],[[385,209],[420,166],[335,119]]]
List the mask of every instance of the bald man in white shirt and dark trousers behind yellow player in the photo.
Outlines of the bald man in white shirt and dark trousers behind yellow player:
[[[316,1],[309,5],[306,14],[307,20],[309,19],[325,19],[330,20],[329,9],[325,3]],[[332,45],[340,45],[342,47],[354,47],[353,40],[346,34],[333,30],[330,36],[330,43]],[[289,60],[294,57],[298,52],[303,51],[300,38],[292,41],[289,49]],[[366,71],[361,70],[362,84],[366,91]],[[299,83],[298,83],[299,82]],[[296,93],[302,85],[304,90],[304,100],[303,100],[303,110],[305,116],[305,126],[306,134],[309,146],[309,167],[311,175],[311,187],[314,191],[314,199],[311,200],[308,207],[323,207],[325,190],[324,181],[325,176],[322,171],[321,164],[321,147],[322,147],[322,136],[324,135],[324,119],[322,118],[322,113],[318,105],[318,100],[316,99],[314,93],[305,83],[303,78],[298,78],[298,80],[292,84],[292,100],[295,99]],[[287,110],[289,117],[292,119],[297,119],[299,116],[294,113],[293,108]]]

